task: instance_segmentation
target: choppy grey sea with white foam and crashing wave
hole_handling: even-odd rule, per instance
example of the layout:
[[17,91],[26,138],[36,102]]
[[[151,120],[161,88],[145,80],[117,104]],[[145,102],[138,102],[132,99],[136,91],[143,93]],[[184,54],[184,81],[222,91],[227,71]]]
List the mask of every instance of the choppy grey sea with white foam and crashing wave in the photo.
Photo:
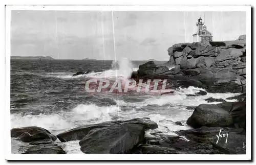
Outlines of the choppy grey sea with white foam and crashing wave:
[[[11,60],[11,128],[37,126],[52,134],[106,121],[149,117],[158,128],[146,131],[147,136],[176,135],[190,129],[186,120],[193,113],[191,106],[207,103],[205,99],[228,98],[239,93],[208,93],[186,96],[199,90],[175,88],[174,92],[88,92],[84,84],[90,79],[129,81],[133,71],[146,61],[113,60]],[[162,64],[166,61],[156,61]],[[76,72],[89,74],[73,77]],[[232,102],[236,100],[226,100]],[[175,122],[181,122],[182,126]],[[60,142],[57,139],[57,142]],[[68,154],[82,153],[78,140],[62,143]],[[29,147],[18,138],[11,138],[12,153],[23,153]]]

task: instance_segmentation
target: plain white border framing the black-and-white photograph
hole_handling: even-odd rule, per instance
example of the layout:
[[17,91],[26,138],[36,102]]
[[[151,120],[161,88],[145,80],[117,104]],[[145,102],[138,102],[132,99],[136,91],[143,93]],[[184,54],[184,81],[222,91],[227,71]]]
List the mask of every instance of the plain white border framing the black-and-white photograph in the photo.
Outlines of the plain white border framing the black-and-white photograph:
[[[49,1],[48,1],[49,2]],[[64,2],[65,3],[65,2]],[[208,2],[207,2],[208,3]],[[10,3],[13,4],[13,3]],[[38,4],[17,2],[15,4]],[[39,3],[40,4],[40,3]],[[54,4],[54,1],[50,1]],[[55,2],[56,4],[56,2]],[[57,4],[63,4],[58,2]],[[79,3],[77,3],[79,4]],[[93,3],[97,4],[97,3]],[[110,4],[110,3],[109,3]],[[128,3],[129,4],[129,3]],[[44,8],[45,7],[45,8]],[[190,154],[11,154],[10,140],[10,16],[11,10],[88,10],[88,11],[246,11],[246,155]],[[5,154],[8,160],[250,160],[251,159],[251,7],[250,6],[6,6],[5,56]],[[170,45],[171,46],[171,45]]]

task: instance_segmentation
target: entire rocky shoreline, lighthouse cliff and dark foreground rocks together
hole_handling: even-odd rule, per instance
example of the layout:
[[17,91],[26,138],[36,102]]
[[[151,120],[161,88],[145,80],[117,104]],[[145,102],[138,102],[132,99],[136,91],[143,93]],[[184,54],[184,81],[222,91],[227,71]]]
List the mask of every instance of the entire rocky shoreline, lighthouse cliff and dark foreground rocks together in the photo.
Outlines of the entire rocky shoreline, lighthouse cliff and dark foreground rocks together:
[[[177,136],[161,132],[149,136],[145,131],[156,129],[158,125],[144,117],[84,125],[56,136],[40,127],[13,128],[11,137],[29,143],[24,154],[64,154],[62,143],[70,140],[79,140],[83,153],[245,154],[245,52],[245,35],[234,41],[179,43],[168,49],[170,60],[167,63],[156,65],[150,61],[132,74],[131,78],[135,80],[167,79],[174,88],[195,86],[212,93],[242,93],[224,98],[237,102],[208,98],[208,103],[222,103],[187,107],[194,109],[186,121],[191,129],[176,131]],[[200,91],[196,95],[206,95],[206,92]],[[175,124],[182,125],[181,122]],[[60,142],[55,142],[57,138]]]

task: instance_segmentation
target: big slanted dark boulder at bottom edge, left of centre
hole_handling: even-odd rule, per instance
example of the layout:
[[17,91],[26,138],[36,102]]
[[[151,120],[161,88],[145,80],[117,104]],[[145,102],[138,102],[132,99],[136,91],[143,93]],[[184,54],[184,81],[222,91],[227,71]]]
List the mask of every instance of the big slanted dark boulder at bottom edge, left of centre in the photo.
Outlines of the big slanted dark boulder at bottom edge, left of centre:
[[92,130],[79,145],[86,154],[125,154],[144,142],[144,133],[142,125],[112,125]]

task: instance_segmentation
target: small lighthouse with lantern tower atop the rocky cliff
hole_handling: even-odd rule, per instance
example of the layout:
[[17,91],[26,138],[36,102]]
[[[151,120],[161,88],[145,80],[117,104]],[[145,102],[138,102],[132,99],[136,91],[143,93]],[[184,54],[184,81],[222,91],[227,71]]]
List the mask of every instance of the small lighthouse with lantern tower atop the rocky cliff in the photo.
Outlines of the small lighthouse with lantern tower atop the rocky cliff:
[[212,41],[213,36],[207,30],[201,17],[199,17],[198,21],[196,22],[196,26],[198,30],[195,34],[193,34],[193,42]]

